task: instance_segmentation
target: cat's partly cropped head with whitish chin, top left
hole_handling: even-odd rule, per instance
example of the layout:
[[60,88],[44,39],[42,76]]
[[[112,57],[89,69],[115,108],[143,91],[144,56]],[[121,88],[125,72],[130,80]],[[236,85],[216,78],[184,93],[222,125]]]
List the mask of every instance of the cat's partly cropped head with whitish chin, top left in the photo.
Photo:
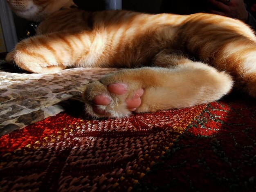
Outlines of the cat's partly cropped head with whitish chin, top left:
[[7,0],[9,7],[22,18],[42,21],[63,7],[76,6],[73,0]]

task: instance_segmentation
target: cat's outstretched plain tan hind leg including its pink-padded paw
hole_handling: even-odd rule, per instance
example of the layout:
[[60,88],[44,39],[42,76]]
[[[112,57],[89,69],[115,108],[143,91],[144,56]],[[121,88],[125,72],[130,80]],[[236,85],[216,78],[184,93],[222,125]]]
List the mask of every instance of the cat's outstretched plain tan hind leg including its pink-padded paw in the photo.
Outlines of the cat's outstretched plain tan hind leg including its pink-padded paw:
[[[125,91],[115,93],[109,89],[113,84],[124,85]],[[232,84],[231,77],[224,72],[192,62],[170,69],[144,67],[121,70],[88,84],[83,99],[85,112],[91,116],[123,117],[131,114],[132,106],[127,100],[136,100],[135,93],[141,94],[141,103],[134,102],[135,112],[155,112],[218,100],[229,92]]]

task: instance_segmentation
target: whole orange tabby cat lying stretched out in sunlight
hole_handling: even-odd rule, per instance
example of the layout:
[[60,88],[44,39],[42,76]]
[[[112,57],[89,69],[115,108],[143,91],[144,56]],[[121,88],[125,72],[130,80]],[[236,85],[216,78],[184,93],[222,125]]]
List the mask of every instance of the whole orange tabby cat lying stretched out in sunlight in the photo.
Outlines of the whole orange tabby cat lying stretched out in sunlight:
[[[239,20],[132,11],[86,12],[72,0],[7,0],[40,22],[6,60],[34,73],[67,67],[125,67],[85,87],[94,117],[209,103],[235,86],[256,97],[256,37]],[[231,78],[232,77],[232,78]]]

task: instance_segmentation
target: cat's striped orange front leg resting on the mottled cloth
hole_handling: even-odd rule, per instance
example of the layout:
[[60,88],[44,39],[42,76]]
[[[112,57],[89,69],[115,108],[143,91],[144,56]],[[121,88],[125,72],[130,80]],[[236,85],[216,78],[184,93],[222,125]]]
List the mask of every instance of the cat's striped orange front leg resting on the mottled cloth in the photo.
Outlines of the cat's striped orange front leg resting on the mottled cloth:
[[34,73],[59,71],[76,65],[88,50],[87,39],[83,34],[68,32],[33,36],[18,42],[6,60]]

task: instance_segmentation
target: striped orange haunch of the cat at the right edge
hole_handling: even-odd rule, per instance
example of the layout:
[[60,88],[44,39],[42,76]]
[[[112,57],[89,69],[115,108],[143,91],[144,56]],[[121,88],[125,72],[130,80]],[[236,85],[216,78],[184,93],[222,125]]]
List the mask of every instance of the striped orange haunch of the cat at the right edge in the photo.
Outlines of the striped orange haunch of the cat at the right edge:
[[256,36],[243,22],[199,13],[185,28],[186,49],[234,77],[235,86],[256,98]]

